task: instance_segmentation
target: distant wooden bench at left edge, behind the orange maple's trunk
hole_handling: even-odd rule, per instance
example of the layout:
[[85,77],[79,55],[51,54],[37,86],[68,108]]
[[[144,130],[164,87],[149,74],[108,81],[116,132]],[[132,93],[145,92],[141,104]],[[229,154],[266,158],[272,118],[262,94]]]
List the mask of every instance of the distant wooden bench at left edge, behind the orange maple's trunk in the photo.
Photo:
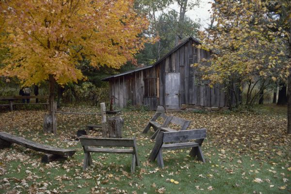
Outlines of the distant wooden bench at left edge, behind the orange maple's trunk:
[[[46,103],[14,103],[16,100],[22,100],[22,99],[32,99],[32,98],[38,98],[38,99],[47,99]],[[0,107],[2,106],[9,106],[10,110],[13,110],[13,106],[15,105],[23,105],[23,104],[45,104],[48,105],[49,96],[0,96],[0,101],[9,101],[9,104],[0,104]]]

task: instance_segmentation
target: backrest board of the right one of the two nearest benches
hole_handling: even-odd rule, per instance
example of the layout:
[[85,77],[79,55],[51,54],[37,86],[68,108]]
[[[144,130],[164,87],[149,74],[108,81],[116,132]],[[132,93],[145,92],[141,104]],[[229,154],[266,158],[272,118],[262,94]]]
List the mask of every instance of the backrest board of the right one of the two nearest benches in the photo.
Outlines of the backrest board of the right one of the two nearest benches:
[[162,132],[163,142],[180,142],[190,139],[204,139],[206,138],[206,129],[193,129],[178,132]]

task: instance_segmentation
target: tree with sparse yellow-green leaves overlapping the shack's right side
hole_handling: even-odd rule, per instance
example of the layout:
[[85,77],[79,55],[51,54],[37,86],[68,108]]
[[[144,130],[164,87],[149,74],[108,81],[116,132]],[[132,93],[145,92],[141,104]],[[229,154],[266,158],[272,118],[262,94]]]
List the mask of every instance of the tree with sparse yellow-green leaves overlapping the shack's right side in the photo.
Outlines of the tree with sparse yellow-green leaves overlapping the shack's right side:
[[290,75],[291,4],[284,0],[217,0],[212,3],[212,13],[216,25],[200,33],[204,44],[197,47],[215,52],[193,66],[204,72],[210,86],[246,87],[245,105],[253,106],[261,91],[272,90],[274,82],[286,81]]

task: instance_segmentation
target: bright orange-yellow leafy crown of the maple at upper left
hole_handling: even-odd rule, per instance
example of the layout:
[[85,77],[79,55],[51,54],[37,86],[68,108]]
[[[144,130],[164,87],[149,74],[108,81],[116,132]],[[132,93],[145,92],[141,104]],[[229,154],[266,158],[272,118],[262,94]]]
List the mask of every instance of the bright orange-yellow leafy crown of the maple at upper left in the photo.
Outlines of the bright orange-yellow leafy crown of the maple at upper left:
[[119,68],[150,41],[133,0],[2,0],[0,49],[9,49],[0,75],[23,85],[60,85],[84,76],[79,60]]

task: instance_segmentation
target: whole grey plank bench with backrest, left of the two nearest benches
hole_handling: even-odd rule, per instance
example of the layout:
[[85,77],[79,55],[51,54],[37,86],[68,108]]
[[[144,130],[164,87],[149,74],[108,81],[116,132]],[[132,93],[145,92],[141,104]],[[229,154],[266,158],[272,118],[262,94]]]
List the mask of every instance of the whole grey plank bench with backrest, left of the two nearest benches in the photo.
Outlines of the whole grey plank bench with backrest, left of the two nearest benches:
[[[137,166],[140,165],[138,154],[137,154],[137,145],[136,145],[135,137],[132,139],[98,138],[98,137],[90,137],[87,135],[82,135],[79,137],[79,139],[85,153],[83,170],[85,170],[87,166],[93,164],[90,152],[132,154],[131,172],[134,172],[135,165]],[[132,149],[97,148],[97,147],[126,147],[126,148],[132,148]]]

